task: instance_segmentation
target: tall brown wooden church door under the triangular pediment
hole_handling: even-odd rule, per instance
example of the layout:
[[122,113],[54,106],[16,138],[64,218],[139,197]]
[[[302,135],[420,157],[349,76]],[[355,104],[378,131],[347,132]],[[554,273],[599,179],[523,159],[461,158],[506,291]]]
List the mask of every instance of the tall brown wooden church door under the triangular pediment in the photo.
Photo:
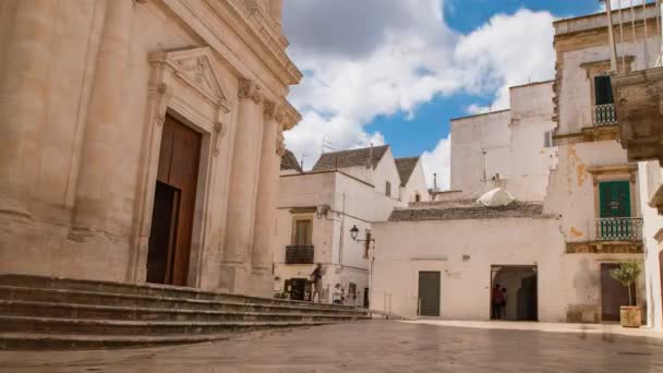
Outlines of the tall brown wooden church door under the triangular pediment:
[[148,282],[188,285],[201,142],[200,133],[166,117],[149,233]]

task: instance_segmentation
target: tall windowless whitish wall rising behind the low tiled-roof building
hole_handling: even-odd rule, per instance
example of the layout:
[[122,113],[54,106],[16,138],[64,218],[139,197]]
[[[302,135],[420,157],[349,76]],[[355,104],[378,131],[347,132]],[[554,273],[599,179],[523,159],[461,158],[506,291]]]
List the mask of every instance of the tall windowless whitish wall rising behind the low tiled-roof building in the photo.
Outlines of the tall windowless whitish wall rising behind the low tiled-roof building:
[[451,189],[475,197],[505,188],[520,201],[542,201],[555,148],[544,147],[555,128],[552,82],[510,89],[509,111],[451,121]]

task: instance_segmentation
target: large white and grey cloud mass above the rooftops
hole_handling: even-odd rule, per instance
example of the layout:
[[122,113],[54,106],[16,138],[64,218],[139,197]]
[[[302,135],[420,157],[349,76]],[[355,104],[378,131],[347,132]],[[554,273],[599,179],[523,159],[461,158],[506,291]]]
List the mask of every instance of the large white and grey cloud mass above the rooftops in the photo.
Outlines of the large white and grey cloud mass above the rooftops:
[[[383,143],[379,132],[364,129],[377,116],[413,115],[435,96],[460,91],[495,94],[493,109],[501,109],[508,107],[510,85],[553,77],[553,17],[545,12],[496,15],[459,35],[444,23],[443,0],[291,0],[286,7],[289,52],[305,73],[290,96],[303,120],[286,141],[298,157],[306,155],[309,167],[323,136],[337,149]],[[448,175],[445,152],[443,139],[426,153],[430,179],[434,170]]]

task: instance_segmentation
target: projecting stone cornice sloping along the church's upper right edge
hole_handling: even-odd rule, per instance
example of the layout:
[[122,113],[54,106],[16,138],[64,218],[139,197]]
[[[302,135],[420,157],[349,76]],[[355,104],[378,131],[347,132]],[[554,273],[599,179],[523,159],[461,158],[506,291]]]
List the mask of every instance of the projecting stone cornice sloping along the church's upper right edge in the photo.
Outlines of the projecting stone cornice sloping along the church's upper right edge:
[[302,73],[285,52],[284,40],[277,40],[239,0],[204,0],[216,15],[230,26],[269,70],[285,84],[298,84]]

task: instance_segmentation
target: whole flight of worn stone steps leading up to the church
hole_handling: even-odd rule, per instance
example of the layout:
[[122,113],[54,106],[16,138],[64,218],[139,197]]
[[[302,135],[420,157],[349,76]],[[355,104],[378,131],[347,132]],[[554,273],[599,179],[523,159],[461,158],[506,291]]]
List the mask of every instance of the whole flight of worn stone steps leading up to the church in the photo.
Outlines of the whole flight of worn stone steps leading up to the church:
[[367,318],[349,306],[191,288],[0,275],[0,349],[194,344]]

